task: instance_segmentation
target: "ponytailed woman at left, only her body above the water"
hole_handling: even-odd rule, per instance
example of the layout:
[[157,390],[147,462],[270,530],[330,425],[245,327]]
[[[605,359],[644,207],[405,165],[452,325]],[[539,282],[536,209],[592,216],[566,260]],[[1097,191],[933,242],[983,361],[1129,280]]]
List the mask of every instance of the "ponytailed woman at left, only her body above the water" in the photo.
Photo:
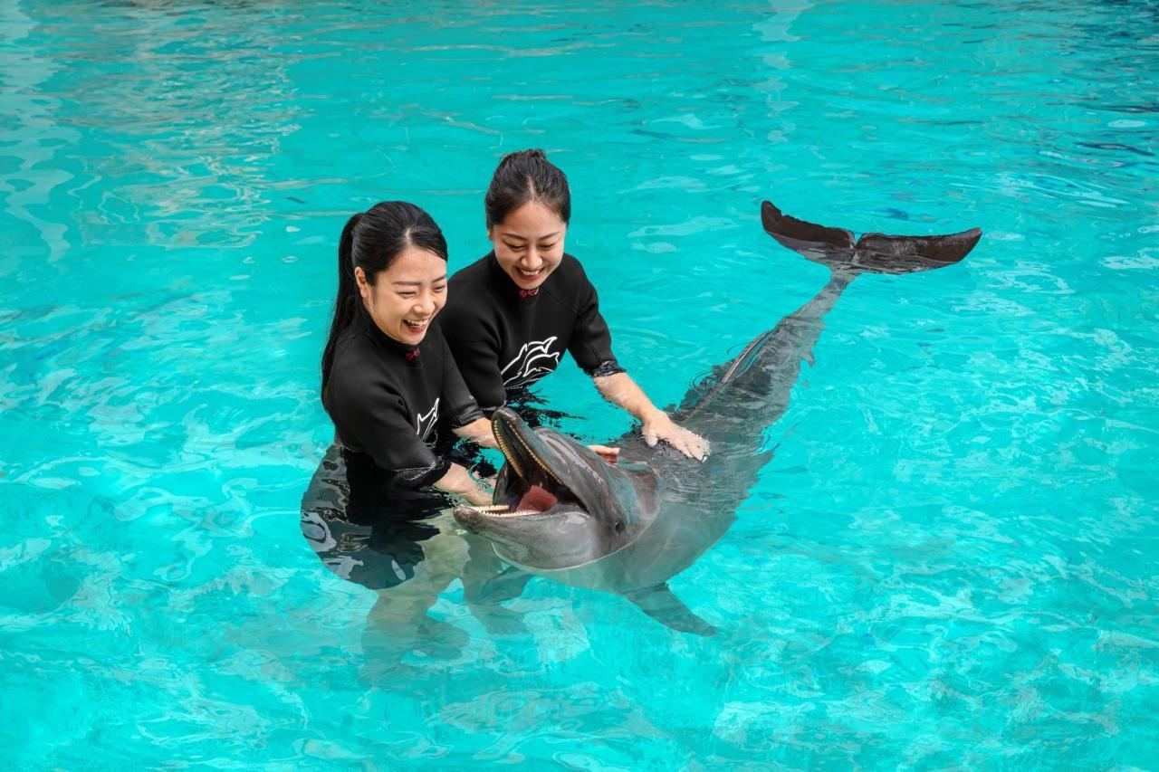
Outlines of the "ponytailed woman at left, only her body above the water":
[[445,297],[446,240],[430,214],[382,202],[351,217],[338,246],[322,405],[338,444],[372,459],[404,497],[433,487],[484,503],[487,491],[429,444],[443,418],[457,435],[494,446],[446,342],[438,330],[428,334]]

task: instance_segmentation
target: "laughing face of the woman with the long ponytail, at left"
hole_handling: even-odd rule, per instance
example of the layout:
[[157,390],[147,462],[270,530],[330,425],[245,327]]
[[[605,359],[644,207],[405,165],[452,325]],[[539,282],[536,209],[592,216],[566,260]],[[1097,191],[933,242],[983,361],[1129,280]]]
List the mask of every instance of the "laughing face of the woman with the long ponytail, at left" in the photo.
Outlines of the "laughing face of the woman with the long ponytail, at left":
[[407,345],[422,343],[431,319],[446,303],[446,261],[418,247],[399,253],[391,267],[374,277],[373,286],[360,268],[355,269],[355,278],[378,328]]

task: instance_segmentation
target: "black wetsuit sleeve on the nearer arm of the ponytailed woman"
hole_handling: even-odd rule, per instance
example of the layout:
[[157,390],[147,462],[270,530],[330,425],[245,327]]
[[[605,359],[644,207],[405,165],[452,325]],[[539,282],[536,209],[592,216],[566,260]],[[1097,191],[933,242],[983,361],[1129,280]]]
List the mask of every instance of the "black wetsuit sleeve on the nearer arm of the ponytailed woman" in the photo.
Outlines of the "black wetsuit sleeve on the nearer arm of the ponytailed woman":
[[436,456],[415,431],[403,413],[403,401],[381,387],[335,386],[331,417],[338,436],[356,442],[374,459],[374,464],[392,472],[395,485],[424,488],[438,482],[451,463]]

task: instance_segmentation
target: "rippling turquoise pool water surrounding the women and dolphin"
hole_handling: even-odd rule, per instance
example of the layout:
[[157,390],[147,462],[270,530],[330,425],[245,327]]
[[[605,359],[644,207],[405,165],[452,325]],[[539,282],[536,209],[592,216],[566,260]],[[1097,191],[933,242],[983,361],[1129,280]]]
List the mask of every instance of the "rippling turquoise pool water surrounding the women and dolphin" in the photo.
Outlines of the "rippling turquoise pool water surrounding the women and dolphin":
[[[5,765],[1153,767],[1157,54],[1142,1],[0,3]],[[542,580],[392,638],[299,533],[344,218],[461,267],[526,146],[659,403],[824,284],[763,198],[986,232],[829,315],[672,582],[715,638]]]

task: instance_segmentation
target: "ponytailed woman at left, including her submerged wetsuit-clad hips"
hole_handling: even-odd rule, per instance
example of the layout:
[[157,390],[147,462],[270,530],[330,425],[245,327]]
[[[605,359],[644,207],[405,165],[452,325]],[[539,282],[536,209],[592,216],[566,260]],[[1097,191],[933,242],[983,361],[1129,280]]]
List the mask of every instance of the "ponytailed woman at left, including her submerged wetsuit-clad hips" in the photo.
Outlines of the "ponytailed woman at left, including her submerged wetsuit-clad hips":
[[[431,326],[446,299],[446,240],[406,202],[355,214],[338,243],[338,294],[322,354],[335,444],[302,502],[302,531],[340,575],[396,584],[422,560],[421,523],[452,502],[491,502],[446,451],[454,435],[494,447],[490,424]],[[371,553],[378,553],[377,555]],[[345,571],[345,573],[343,573]]]

